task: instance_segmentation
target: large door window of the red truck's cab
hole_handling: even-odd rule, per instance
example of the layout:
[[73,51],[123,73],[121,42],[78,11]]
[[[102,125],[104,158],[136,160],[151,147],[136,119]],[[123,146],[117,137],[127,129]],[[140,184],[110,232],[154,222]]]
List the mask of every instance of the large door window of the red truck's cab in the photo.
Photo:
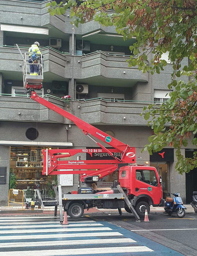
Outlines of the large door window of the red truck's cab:
[[136,170],[136,180],[141,180],[149,185],[157,185],[157,176],[153,170]]

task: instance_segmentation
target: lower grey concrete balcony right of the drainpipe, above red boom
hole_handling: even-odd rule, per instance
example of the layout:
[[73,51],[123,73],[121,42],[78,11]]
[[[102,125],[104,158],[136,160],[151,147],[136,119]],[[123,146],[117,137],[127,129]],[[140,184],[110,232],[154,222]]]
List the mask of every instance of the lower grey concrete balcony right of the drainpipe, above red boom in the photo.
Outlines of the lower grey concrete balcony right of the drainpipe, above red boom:
[[89,124],[147,125],[140,116],[147,103],[93,100],[81,103],[80,118]]

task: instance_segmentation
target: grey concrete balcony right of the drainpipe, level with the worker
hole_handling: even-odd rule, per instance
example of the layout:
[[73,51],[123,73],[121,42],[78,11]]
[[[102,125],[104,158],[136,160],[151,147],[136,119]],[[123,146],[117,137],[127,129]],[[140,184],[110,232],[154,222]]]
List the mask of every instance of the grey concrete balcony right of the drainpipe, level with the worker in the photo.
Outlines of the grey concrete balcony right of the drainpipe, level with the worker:
[[129,56],[110,56],[100,51],[84,56],[81,58],[81,78],[103,76],[148,82],[148,73],[143,74],[137,67],[129,68],[128,59]]

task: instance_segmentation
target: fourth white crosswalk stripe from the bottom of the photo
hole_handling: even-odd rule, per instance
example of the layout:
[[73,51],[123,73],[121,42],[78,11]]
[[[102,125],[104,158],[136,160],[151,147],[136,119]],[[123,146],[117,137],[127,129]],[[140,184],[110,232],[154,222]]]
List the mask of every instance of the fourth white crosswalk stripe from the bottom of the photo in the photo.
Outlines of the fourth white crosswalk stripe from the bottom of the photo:
[[[101,228],[67,228],[69,226],[64,226],[64,228],[62,228],[62,226],[60,226],[61,228],[57,228],[57,229],[37,229],[37,230],[34,230],[34,229],[21,229],[21,230],[18,230],[18,233],[20,234],[24,234],[24,233],[47,233],[47,232],[76,232],[76,231],[80,231],[80,232],[84,232],[84,231],[100,231],[100,230],[112,230],[111,228],[107,228],[107,227],[101,227]],[[28,226],[27,226],[28,228]],[[1,230],[1,234],[13,234],[15,233],[16,230]]]

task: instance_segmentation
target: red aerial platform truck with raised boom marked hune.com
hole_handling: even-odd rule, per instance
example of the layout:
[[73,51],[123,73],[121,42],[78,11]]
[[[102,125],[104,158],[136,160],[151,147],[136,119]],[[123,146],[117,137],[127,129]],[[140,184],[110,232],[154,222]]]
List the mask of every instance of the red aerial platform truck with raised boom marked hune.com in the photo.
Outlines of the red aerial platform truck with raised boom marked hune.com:
[[[91,207],[118,209],[134,213],[137,220],[142,218],[150,205],[164,206],[162,199],[161,176],[158,176],[155,167],[135,164],[135,148],[130,147],[98,128],[92,126],[72,115],[55,104],[48,102],[36,94],[34,89],[29,89],[31,99],[43,106],[66,117],[78,126],[82,132],[93,140],[100,148],[89,149],[44,149],[43,150],[43,174],[80,174],[81,184],[74,194],[62,194],[59,206],[62,205],[71,218],[80,218],[84,209]],[[94,137],[94,138],[93,138]],[[96,139],[105,142],[102,145]],[[112,160],[65,160],[65,158],[80,154],[108,153]],[[120,153],[120,157],[117,154]],[[97,182],[114,172],[118,164],[125,164],[119,169],[119,180],[113,182],[110,190],[101,191],[96,187]],[[65,171],[66,170],[66,171]],[[61,186],[58,186],[60,190]],[[56,196],[61,198],[61,192],[56,191]],[[62,202],[60,202],[62,201]],[[61,222],[61,220],[60,220]]]

